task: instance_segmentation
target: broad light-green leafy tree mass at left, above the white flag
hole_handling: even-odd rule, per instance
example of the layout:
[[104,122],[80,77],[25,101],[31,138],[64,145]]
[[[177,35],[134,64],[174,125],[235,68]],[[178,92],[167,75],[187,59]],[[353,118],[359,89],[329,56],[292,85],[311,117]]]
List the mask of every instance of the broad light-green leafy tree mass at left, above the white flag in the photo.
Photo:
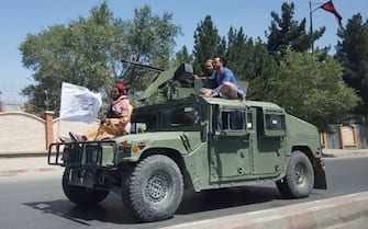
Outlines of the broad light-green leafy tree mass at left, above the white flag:
[[116,80],[129,87],[142,87],[132,67],[122,59],[147,65],[168,66],[180,27],[171,23],[171,14],[153,15],[149,7],[135,10],[133,21],[114,19],[107,2],[93,8],[90,16],[54,25],[36,35],[27,35],[21,44],[25,68],[34,70],[35,84],[23,90],[33,106],[59,107],[63,81],[104,91]]

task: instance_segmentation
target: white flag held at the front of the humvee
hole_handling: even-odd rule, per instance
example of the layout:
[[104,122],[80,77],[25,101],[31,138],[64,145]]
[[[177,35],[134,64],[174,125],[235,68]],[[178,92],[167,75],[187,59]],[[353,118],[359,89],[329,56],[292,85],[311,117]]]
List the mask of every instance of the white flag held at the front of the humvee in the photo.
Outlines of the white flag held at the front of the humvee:
[[100,111],[102,99],[85,87],[63,82],[60,119],[92,123]]

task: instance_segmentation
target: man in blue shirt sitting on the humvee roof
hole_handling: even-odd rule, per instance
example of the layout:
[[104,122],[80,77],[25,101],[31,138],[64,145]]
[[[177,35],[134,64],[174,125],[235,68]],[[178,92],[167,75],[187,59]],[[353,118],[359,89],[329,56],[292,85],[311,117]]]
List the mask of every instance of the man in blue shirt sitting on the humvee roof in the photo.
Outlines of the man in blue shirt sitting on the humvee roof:
[[230,100],[245,100],[246,94],[238,85],[234,73],[224,67],[224,60],[221,57],[213,59],[213,68],[216,71],[215,80],[218,87],[215,89],[201,89],[203,96],[221,96]]

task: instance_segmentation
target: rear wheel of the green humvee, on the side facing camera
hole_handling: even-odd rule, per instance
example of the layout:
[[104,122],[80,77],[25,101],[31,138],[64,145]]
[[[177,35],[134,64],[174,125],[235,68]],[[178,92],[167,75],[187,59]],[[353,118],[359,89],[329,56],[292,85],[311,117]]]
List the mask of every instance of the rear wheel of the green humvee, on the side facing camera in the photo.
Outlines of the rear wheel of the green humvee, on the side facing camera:
[[276,182],[279,192],[288,198],[308,197],[314,184],[314,172],[311,161],[301,151],[291,153],[287,173]]

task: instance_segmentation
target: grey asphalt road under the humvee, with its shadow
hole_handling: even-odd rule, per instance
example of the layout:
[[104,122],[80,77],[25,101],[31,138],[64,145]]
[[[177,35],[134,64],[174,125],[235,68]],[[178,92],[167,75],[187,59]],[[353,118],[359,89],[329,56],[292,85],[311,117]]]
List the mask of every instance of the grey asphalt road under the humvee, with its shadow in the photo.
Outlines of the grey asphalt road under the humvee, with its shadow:
[[116,194],[96,208],[75,206],[63,194],[60,172],[0,176],[0,229],[160,228],[368,191],[368,158],[326,159],[326,174],[328,190],[306,199],[285,199],[274,183],[186,192],[172,219],[150,224],[132,219]]

